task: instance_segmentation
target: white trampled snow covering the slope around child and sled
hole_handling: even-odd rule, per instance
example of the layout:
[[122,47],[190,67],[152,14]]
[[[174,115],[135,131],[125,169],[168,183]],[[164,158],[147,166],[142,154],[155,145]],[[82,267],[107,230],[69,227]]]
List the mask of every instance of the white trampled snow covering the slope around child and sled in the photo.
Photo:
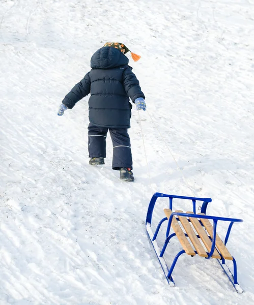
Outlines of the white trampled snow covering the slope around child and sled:
[[[253,13],[253,0],[1,2],[1,305],[254,303]],[[132,111],[133,183],[111,170],[110,137],[106,164],[88,164],[88,97],[57,115],[108,41],[142,56],[127,54],[148,107]],[[145,227],[155,192],[244,220],[228,242],[242,294],[187,255],[168,286]]]

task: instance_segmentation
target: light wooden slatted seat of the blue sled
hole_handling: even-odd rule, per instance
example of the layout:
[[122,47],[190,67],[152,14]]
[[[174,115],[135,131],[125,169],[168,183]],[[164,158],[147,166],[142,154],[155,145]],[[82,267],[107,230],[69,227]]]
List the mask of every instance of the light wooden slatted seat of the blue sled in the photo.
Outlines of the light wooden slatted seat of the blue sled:
[[[170,219],[172,210],[165,208],[164,213],[167,219]],[[183,213],[183,211],[176,210],[176,213]],[[189,214],[189,217],[178,216],[178,220],[180,221],[186,233],[182,230],[181,226],[177,221],[177,218],[175,216],[173,216],[172,218],[171,226],[175,231],[176,236],[178,237],[186,254],[194,256],[196,251],[196,253],[199,256],[208,257],[208,254],[211,252],[212,249],[212,241],[211,241],[213,237],[212,224],[208,219],[198,218],[198,215],[205,215],[204,213],[198,213],[195,215],[193,212],[188,211],[186,212],[186,214]],[[190,223],[192,224],[196,232],[194,231]],[[201,225],[201,223],[203,224],[204,227]],[[205,231],[204,228],[207,231]],[[189,237],[192,245],[187,239],[186,235]],[[203,244],[205,245],[206,248],[204,248],[198,237],[203,241]],[[228,249],[225,247],[223,241],[220,239],[217,233],[215,240],[216,240],[215,245],[219,252],[215,248],[211,257],[221,259],[222,256],[224,259],[233,260],[232,255],[229,253]],[[195,249],[195,251],[193,250],[193,248]]]

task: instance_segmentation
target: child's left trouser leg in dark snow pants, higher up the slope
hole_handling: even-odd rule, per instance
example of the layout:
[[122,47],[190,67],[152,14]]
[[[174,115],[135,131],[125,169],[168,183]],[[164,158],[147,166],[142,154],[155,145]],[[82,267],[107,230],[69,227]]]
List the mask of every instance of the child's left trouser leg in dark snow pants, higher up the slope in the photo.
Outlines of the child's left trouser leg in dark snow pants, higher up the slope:
[[92,123],[88,126],[89,158],[106,158],[107,128],[98,127]]

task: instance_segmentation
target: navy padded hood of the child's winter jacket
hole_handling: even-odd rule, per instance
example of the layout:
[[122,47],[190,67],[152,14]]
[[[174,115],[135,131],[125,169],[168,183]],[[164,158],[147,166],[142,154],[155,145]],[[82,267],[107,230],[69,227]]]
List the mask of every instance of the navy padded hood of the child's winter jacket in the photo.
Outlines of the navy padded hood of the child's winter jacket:
[[91,57],[92,69],[110,69],[128,65],[129,59],[113,47],[102,47]]

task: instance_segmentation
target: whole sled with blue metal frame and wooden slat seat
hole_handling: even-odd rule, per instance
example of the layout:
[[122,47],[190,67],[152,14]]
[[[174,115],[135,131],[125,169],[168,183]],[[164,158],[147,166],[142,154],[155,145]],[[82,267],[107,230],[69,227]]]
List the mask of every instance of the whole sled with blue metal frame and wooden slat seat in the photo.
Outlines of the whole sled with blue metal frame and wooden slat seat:
[[[161,197],[169,198],[169,208],[164,208],[165,218],[161,219],[157,225],[155,232],[152,231],[152,215],[156,200]],[[173,211],[173,198],[190,200],[192,201],[192,211],[187,211],[186,213],[182,210]],[[175,196],[168,194],[155,193],[151,198],[146,219],[146,229],[148,237],[152,242],[154,251],[158,257],[164,275],[170,286],[175,286],[175,282],[172,278],[172,272],[175,268],[178,258],[183,253],[190,255],[191,257],[196,254],[204,257],[205,259],[216,258],[222,267],[225,274],[228,276],[230,282],[233,284],[234,288],[238,293],[242,293],[243,290],[237,282],[237,265],[236,260],[230,254],[225,245],[228,242],[229,235],[232,226],[235,222],[243,222],[241,219],[225,218],[225,217],[215,217],[206,215],[206,209],[211,198],[196,198],[196,197],[186,197],[186,196]],[[196,213],[196,203],[203,202],[201,205],[200,213]],[[211,222],[213,225],[211,224]],[[229,227],[227,234],[225,235],[224,242],[220,239],[217,234],[217,223],[218,222],[229,222]],[[164,245],[160,250],[156,241],[156,237],[161,229],[162,223],[166,222],[166,238]],[[170,242],[170,239],[177,236],[179,239],[183,250],[181,250],[173,259],[170,268],[163,258],[165,250]],[[201,242],[202,241],[202,242]],[[233,273],[230,271],[229,267],[225,263],[225,260],[233,262]]]

